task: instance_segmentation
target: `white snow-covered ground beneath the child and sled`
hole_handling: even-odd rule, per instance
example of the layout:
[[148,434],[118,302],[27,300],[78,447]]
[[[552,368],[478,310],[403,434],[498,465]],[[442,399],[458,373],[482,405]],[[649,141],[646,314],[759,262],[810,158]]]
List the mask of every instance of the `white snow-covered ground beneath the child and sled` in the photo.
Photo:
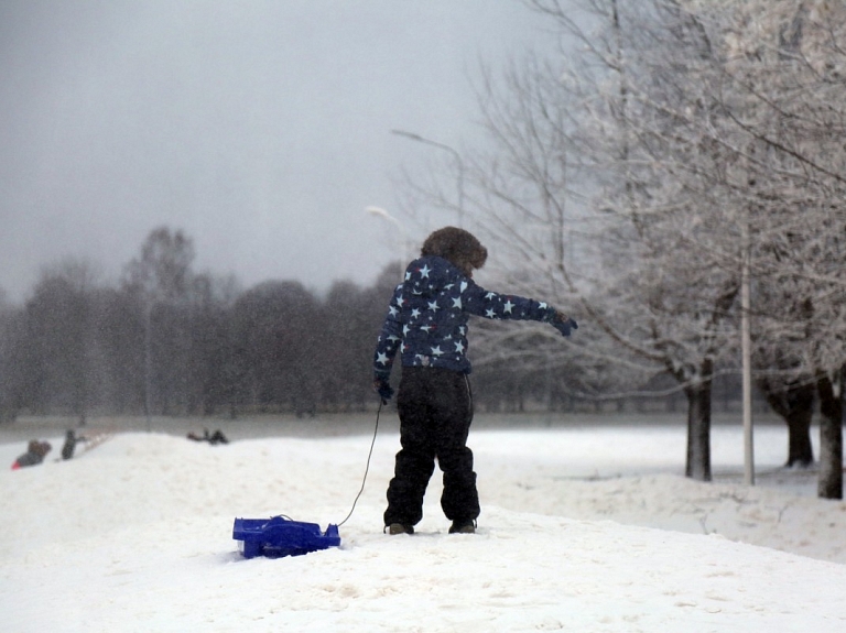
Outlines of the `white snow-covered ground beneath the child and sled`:
[[[447,534],[436,471],[417,533],[387,536],[399,438],[383,421],[341,546],[249,560],[236,516],[347,515],[365,427],[230,430],[226,446],[124,430],[65,462],[61,429],[41,429],[45,463],[0,471],[0,631],[846,631],[846,504],[815,499],[815,473],[779,468],[781,426],[756,429],[747,488],[739,425],[714,428],[702,484],[682,477],[681,425],[481,419],[478,533]],[[0,429],[0,462],[31,430]]]

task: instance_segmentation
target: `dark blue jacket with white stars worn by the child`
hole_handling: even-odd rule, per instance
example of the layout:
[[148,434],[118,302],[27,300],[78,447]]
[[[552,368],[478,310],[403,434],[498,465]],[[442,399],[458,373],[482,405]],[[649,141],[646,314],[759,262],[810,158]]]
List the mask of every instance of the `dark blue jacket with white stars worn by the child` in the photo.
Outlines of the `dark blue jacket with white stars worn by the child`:
[[377,375],[391,371],[397,352],[403,367],[434,367],[470,373],[467,321],[545,320],[555,310],[545,303],[484,290],[443,258],[422,257],[405,269],[397,286],[373,354]]

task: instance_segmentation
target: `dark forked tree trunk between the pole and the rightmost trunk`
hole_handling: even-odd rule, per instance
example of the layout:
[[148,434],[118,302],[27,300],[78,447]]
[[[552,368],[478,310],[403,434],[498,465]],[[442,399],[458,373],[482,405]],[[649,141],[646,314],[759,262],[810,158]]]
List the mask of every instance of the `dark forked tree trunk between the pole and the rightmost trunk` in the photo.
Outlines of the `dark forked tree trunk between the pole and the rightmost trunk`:
[[811,444],[811,419],[814,416],[814,394],[816,385],[812,383],[788,385],[777,391],[769,381],[758,381],[767,403],[788,424],[788,462],[787,467],[807,467],[814,462],[814,447]]

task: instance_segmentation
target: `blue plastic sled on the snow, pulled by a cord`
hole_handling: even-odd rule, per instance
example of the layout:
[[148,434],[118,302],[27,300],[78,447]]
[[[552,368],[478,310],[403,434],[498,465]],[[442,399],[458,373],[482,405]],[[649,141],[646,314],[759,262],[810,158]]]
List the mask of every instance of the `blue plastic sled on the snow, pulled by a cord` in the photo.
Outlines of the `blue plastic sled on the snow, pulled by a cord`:
[[236,519],[232,538],[240,541],[238,548],[245,558],[300,556],[340,545],[337,525],[329,524],[326,532],[322,533],[316,523],[292,521],[283,516]]

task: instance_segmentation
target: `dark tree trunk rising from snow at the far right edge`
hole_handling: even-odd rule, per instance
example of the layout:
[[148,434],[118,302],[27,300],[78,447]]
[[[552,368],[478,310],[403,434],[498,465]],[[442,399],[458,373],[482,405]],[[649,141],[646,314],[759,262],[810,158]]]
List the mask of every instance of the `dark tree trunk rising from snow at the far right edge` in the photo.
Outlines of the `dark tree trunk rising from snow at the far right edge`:
[[820,394],[820,480],[817,496],[843,499],[843,371],[822,373]]

